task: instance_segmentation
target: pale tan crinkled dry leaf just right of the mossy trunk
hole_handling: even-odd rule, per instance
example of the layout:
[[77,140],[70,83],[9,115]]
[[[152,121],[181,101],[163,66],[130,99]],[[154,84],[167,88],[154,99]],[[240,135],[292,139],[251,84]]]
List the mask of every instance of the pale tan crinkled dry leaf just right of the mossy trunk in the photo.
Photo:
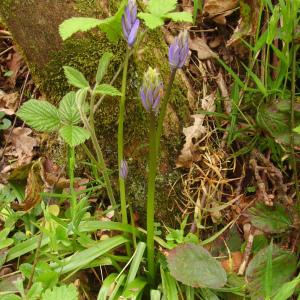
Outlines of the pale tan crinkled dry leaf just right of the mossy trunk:
[[[215,94],[210,94],[202,99],[202,109],[213,112],[215,111]],[[203,126],[204,114],[192,115],[194,124],[190,127],[183,128],[183,134],[185,135],[185,144],[181,150],[176,161],[176,167],[190,168],[193,162],[200,159],[200,155],[197,152],[198,140],[203,137],[207,130]]]

